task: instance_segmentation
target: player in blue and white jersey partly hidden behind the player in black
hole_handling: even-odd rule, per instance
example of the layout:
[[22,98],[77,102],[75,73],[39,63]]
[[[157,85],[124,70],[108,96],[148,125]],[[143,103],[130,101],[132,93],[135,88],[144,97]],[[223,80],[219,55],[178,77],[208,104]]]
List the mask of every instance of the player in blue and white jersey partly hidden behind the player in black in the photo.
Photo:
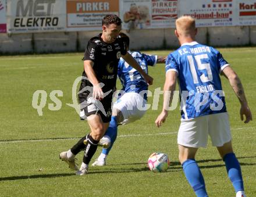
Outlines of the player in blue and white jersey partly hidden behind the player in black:
[[[127,51],[129,50],[129,37],[124,34],[119,34],[126,44]],[[128,51],[131,56],[138,62],[141,68],[148,73],[148,66],[155,66],[156,63],[165,63],[166,57],[157,55],[146,55],[140,52]],[[143,106],[147,104],[147,90],[148,84],[141,76],[141,74],[133,69],[123,58],[120,58],[118,64],[118,77],[122,83],[122,91],[124,94],[113,104],[113,112],[111,122],[109,124],[106,134],[99,141],[99,144],[108,142],[111,139],[109,148],[103,148],[101,155],[92,164],[92,166],[105,166],[106,157],[111,150],[113,143],[118,134],[118,125],[124,125],[141,119],[145,114]]]

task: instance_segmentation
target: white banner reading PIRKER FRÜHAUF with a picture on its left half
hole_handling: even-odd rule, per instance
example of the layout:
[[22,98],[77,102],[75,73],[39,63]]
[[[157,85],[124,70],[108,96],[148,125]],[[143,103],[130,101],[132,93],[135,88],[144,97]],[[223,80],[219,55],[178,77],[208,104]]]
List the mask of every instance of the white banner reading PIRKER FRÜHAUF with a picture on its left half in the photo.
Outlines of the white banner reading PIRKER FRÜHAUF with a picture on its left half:
[[177,0],[122,0],[119,8],[126,30],[175,27]]

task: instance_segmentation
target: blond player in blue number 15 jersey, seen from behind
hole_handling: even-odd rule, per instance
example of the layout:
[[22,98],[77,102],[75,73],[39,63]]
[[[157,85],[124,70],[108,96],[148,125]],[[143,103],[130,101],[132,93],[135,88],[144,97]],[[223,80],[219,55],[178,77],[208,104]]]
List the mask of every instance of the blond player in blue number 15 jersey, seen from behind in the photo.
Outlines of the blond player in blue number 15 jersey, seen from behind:
[[[208,196],[204,178],[195,162],[198,148],[207,146],[208,135],[226,165],[236,196],[245,196],[239,161],[234,155],[231,142],[229,116],[222,92],[223,74],[241,103],[240,116],[244,123],[252,120],[243,85],[232,67],[216,49],[195,42],[195,20],[182,16],[176,20],[175,35],[180,48],[168,55],[166,79],[163,87],[163,110],[155,120],[158,127],[168,116],[176,81],[180,87],[181,124],[178,132],[179,160],[187,181],[197,196]],[[168,91],[171,91],[169,94]],[[170,102],[169,102],[170,101]]]

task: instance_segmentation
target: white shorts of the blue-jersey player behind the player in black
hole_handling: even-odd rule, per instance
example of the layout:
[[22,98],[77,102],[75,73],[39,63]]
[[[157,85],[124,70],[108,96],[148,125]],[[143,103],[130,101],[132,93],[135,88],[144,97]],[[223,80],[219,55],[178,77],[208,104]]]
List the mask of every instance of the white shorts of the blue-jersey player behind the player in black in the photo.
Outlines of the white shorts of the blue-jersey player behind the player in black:
[[128,124],[141,119],[146,112],[147,101],[136,92],[127,92],[113,104],[113,108],[119,109],[123,114],[120,124]]

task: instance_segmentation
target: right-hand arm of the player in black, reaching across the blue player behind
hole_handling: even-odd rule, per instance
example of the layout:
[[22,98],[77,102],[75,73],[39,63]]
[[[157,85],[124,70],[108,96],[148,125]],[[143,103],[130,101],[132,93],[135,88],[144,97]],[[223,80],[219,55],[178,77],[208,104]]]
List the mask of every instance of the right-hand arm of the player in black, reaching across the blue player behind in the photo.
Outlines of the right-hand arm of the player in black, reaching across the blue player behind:
[[148,85],[153,84],[154,79],[150,77],[147,73],[145,73],[143,69],[141,69],[140,65],[138,65],[138,62],[133,58],[133,56],[130,55],[130,53],[126,53],[126,55],[121,56],[130,66],[134,67],[134,69],[136,69],[144,77]]

